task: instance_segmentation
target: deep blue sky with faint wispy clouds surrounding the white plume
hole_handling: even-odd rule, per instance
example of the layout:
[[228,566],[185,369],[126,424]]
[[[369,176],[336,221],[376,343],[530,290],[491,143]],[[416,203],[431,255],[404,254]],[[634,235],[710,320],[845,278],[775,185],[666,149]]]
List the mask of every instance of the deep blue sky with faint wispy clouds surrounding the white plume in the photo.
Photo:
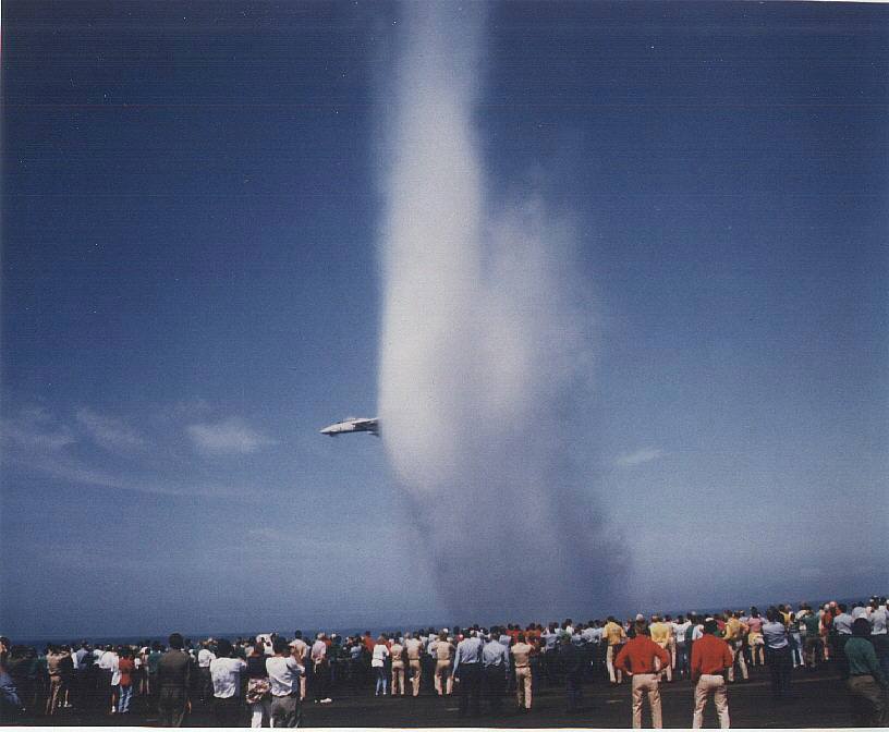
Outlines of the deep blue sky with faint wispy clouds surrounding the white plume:
[[[317,434],[377,408],[405,15],[4,11],[0,630],[447,615],[381,443]],[[632,607],[885,591],[887,10],[488,11],[484,182],[576,232]]]

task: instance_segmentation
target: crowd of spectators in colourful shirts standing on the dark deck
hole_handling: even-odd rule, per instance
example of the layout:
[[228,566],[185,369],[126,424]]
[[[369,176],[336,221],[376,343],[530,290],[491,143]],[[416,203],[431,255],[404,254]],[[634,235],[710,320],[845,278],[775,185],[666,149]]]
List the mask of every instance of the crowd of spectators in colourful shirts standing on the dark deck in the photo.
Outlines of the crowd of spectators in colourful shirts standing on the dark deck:
[[0,638],[2,720],[51,718],[65,710],[127,715],[134,697],[163,727],[181,727],[195,705],[211,708],[219,727],[297,727],[303,703],[373,688],[376,696],[459,695],[460,713],[499,715],[513,696],[529,712],[541,685],[562,687],[569,711],[580,707],[584,682],[619,686],[629,678],[632,723],[662,727],[661,683],[694,683],[692,727],[714,699],[719,724],[730,725],[727,685],[743,683],[752,667],[768,668],[771,692],[786,699],[793,669],[830,663],[844,679],[861,725],[885,725],[889,681],[889,602],[873,597],[849,608],[801,603],[760,614],[726,610],[677,618],[642,614],[546,626],[370,632],[308,639],[260,634],[193,643],[172,634],[166,644],[47,645],[41,651]]

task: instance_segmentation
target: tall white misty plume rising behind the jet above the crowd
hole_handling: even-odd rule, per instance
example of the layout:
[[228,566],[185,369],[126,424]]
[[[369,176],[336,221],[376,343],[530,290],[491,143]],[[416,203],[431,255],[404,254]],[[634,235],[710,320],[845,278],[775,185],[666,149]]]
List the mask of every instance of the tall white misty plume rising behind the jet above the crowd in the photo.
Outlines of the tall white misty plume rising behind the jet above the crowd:
[[[533,194],[486,198],[483,9],[405,11],[382,173],[379,416],[424,527],[413,540],[451,611],[592,611],[617,557],[565,449],[594,365],[575,236]],[[456,591],[466,582],[479,593]]]

